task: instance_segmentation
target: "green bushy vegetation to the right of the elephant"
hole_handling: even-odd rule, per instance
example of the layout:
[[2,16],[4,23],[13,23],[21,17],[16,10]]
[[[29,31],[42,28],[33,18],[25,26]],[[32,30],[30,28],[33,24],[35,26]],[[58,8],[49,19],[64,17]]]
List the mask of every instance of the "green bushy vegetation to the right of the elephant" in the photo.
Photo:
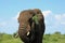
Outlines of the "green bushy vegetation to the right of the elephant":
[[44,35],[44,43],[65,43],[65,35],[61,32]]

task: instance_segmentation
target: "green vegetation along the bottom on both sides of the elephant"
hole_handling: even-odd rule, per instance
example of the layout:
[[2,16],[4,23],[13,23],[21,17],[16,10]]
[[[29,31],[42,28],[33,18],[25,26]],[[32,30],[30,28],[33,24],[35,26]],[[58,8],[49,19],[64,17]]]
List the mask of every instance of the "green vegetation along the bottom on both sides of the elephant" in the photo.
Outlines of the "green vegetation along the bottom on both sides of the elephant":
[[[53,34],[44,34],[43,43],[65,43],[65,34],[55,32]],[[0,43],[23,43],[20,38],[14,38],[13,34],[0,33]]]

